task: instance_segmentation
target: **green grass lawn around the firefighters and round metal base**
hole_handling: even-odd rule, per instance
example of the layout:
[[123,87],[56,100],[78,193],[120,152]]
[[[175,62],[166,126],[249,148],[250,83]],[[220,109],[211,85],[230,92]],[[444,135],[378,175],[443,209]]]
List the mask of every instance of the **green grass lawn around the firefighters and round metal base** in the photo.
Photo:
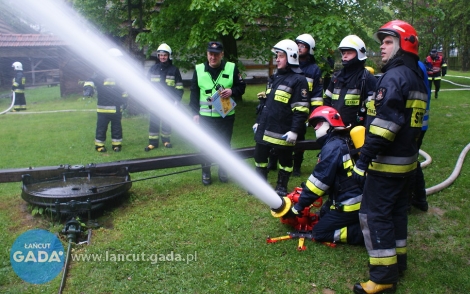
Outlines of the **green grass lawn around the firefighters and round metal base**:
[[[470,77],[453,71],[449,75]],[[459,78],[458,83],[470,85],[470,79]],[[451,174],[461,150],[469,143],[470,92],[447,91],[455,88],[442,82],[439,99],[432,100],[430,129],[422,146],[433,158],[424,169],[427,187]],[[262,90],[263,85],[249,86],[244,102],[237,106],[236,148],[254,145],[251,126],[256,93]],[[185,104],[188,97],[186,89]],[[26,99],[28,112],[80,111],[0,116],[2,169],[86,165],[195,151],[181,135],[174,134],[174,148],[144,152],[148,122],[146,115],[139,115],[123,118],[121,153],[99,154],[93,148],[95,101],[79,96],[59,98],[58,88],[28,90]],[[307,138],[314,138],[312,130]],[[290,188],[308,177],[317,153],[306,153],[302,178],[292,179]],[[251,159],[247,161],[252,164]],[[148,171],[132,177],[172,171]],[[409,269],[400,279],[397,293],[470,292],[469,173],[467,160],[450,187],[429,196],[427,213],[413,210],[409,215]],[[272,184],[275,177],[275,173],[269,174]],[[17,277],[10,265],[9,250],[21,233],[32,228],[58,233],[63,228],[47,215],[32,216],[20,194],[20,183],[1,184],[0,222],[4,225],[0,229],[0,292],[57,292],[61,275],[46,284],[32,285]],[[136,182],[129,194],[122,205],[97,216],[102,226],[93,231],[92,244],[75,246],[75,254],[171,256],[173,252],[197,259],[188,263],[74,261],[64,293],[350,293],[354,283],[368,277],[368,255],[361,246],[330,248],[307,241],[307,250],[299,252],[295,240],[266,244],[268,235],[285,235],[289,228],[237,183],[215,181],[204,187],[200,172],[193,171]]]

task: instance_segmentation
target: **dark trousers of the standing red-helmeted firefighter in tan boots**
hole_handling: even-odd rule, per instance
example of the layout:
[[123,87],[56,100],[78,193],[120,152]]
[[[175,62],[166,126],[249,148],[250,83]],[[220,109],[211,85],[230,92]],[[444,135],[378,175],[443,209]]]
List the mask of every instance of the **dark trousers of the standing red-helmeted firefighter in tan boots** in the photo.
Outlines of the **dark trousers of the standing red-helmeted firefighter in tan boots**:
[[399,271],[407,267],[407,207],[412,180],[412,175],[367,175],[359,220],[369,253],[369,278],[375,283],[396,283]]

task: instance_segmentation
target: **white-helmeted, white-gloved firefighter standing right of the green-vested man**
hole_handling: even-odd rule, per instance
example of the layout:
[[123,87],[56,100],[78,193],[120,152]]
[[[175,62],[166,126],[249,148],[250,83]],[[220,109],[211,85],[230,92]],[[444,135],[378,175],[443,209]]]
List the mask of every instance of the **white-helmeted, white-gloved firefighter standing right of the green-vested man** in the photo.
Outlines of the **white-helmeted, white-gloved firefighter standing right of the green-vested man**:
[[305,128],[309,116],[308,83],[299,68],[298,46],[282,40],[272,49],[276,54],[277,72],[269,77],[266,99],[260,99],[260,111],[253,125],[255,132],[256,171],[267,179],[268,156],[271,148],[279,159],[276,192],[287,194],[292,173],[292,153],[297,135]]

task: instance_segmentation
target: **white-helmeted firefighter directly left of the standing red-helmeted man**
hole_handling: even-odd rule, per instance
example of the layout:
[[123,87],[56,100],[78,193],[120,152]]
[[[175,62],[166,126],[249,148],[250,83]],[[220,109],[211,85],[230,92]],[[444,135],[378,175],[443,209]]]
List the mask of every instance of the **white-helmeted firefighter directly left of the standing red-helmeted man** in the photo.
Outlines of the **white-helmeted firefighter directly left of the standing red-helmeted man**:
[[366,45],[356,35],[346,36],[338,46],[343,68],[336,72],[323,96],[323,104],[338,110],[346,126],[363,125],[365,103],[377,79],[365,68]]

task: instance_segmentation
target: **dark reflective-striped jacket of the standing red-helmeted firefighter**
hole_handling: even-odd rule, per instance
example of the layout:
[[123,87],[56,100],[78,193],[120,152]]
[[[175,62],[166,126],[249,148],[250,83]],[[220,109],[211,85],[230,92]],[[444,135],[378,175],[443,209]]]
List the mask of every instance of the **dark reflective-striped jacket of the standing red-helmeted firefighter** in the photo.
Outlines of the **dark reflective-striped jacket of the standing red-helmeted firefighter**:
[[382,71],[361,156],[372,158],[369,173],[404,176],[416,168],[416,140],[426,112],[427,88],[418,61],[411,56],[393,58]]

